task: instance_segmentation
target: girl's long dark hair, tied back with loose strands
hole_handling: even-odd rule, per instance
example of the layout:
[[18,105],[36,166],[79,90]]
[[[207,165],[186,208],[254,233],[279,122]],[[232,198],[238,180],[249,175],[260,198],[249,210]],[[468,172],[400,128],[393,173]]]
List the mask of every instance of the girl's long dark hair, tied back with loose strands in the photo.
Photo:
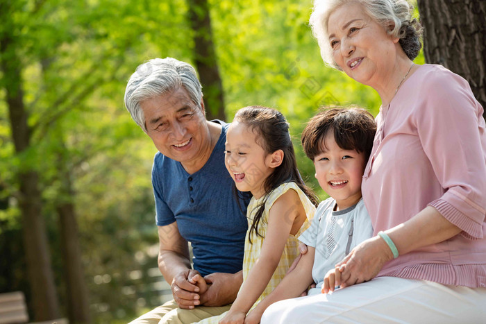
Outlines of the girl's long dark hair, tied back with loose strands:
[[[255,231],[256,235],[263,237],[258,232],[258,224],[262,219],[269,194],[278,186],[285,182],[295,182],[315,206],[319,205],[319,200],[314,192],[305,186],[297,169],[294,145],[289,133],[289,123],[287,123],[283,114],[275,109],[254,105],[238,110],[235,114],[235,121],[244,123],[249,130],[256,134],[258,145],[265,150],[265,153],[283,151],[282,163],[263,182],[265,198],[262,203],[255,207],[258,210],[250,227],[250,236]],[[249,241],[251,243],[251,239]]]

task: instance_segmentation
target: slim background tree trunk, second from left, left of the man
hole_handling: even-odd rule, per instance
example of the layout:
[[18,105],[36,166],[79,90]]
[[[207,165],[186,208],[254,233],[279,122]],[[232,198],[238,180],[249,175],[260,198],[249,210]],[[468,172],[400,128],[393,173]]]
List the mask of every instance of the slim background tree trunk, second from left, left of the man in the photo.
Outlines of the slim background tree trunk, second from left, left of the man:
[[[65,148],[64,143],[60,146]],[[71,174],[67,169],[65,159],[62,158],[62,153],[59,154],[58,163],[61,190],[56,202],[56,210],[59,215],[62,262],[66,280],[67,314],[69,323],[90,323],[90,307],[81,262],[78,223],[76,210],[72,203],[74,190],[72,189]]]

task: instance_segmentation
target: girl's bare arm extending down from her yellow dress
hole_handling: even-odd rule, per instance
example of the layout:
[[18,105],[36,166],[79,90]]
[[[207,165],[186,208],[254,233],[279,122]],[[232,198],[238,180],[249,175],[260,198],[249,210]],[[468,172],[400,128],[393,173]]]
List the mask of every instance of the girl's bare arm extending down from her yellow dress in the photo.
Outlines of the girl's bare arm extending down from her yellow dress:
[[251,267],[248,278],[243,282],[228,314],[219,323],[242,323],[274,274],[296,219],[301,219],[302,224],[306,219],[305,210],[299,194],[289,190],[269,210],[268,228],[260,257]]

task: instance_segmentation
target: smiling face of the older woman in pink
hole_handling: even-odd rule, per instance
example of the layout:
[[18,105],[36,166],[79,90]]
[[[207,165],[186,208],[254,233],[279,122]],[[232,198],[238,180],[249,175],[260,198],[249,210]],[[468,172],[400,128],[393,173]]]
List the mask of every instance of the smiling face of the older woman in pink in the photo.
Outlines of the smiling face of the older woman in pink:
[[371,87],[387,83],[398,38],[388,35],[360,3],[338,7],[329,16],[328,34],[333,60],[348,76]]

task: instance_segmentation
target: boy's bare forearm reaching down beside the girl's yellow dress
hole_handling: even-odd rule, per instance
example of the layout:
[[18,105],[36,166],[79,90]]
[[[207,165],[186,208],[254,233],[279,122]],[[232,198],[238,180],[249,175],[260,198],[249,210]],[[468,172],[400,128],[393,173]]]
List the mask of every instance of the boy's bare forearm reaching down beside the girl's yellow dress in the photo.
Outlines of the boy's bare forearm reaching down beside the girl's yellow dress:
[[307,289],[312,280],[312,266],[314,265],[315,248],[308,246],[308,252],[302,255],[296,268],[285,275],[285,278],[278,284],[276,289],[269,296],[265,297],[258,305],[246,316],[244,323],[260,323],[263,312],[274,302],[288,298],[301,296],[302,291]]

